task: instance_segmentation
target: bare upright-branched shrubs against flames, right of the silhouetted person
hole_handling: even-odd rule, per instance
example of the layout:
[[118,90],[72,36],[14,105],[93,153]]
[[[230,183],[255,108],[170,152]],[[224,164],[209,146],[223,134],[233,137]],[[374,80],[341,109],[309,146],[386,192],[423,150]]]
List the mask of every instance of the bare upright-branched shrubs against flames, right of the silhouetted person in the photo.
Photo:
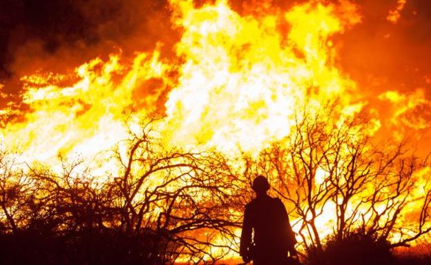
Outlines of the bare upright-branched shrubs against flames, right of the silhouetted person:
[[429,160],[404,142],[374,145],[364,113],[336,120],[331,112],[301,115],[256,160],[296,216],[304,247],[322,251],[328,234],[341,241],[360,231],[403,246],[428,233]]

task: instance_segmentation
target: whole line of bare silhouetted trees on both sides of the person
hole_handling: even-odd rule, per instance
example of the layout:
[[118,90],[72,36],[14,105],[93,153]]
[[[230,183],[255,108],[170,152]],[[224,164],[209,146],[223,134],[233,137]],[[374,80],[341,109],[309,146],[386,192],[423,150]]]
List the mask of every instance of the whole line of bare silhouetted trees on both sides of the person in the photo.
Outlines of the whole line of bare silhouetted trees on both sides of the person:
[[[431,189],[419,178],[429,174],[428,158],[405,143],[377,145],[365,113],[343,118],[334,109],[298,113],[291,134],[257,157],[167,147],[150,120],[113,149],[119,171],[103,179],[83,170],[84,160],[63,160],[59,172],[3,152],[0,234],[10,248],[26,249],[13,238],[39,240],[55,253],[39,251],[41,264],[211,264],[238,251],[236,231],[258,173],[285,201],[307,252],[323,251],[318,218],[328,206],[338,241],[361,233],[396,247],[430,232]],[[10,261],[13,251],[5,256]]]

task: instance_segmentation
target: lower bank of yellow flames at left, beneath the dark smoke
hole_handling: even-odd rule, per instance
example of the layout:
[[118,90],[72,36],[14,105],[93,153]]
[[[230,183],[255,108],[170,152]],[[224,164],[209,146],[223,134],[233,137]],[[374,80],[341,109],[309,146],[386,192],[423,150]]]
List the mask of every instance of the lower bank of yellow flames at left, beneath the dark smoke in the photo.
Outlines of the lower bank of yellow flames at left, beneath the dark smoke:
[[[23,103],[30,112],[24,114],[24,122],[8,123],[2,129],[5,148],[21,151],[28,162],[51,165],[58,162],[57,156],[89,158],[111,149],[128,136],[124,116],[131,108],[137,103],[155,105],[157,94],[137,101],[133,91],[151,78],[162,78],[166,65],[157,59],[157,51],[151,56],[139,54],[128,69],[119,64],[117,55],[107,62],[94,59],[77,68],[79,81],[70,87],[51,85],[40,75],[24,76]],[[117,76],[122,76],[119,82]],[[132,126],[149,111],[139,109],[131,115]]]

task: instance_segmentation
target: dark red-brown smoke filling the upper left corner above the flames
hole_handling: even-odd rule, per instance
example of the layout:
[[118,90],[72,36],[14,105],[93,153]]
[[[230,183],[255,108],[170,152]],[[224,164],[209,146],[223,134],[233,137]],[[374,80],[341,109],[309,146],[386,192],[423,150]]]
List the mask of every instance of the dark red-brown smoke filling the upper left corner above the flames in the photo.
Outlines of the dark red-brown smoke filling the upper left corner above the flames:
[[[96,56],[154,50],[169,56],[178,36],[166,1],[6,0],[0,3],[0,83],[19,96],[19,78],[71,72]],[[10,99],[10,98],[9,98]],[[3,104],[8,99],[3,98]]]

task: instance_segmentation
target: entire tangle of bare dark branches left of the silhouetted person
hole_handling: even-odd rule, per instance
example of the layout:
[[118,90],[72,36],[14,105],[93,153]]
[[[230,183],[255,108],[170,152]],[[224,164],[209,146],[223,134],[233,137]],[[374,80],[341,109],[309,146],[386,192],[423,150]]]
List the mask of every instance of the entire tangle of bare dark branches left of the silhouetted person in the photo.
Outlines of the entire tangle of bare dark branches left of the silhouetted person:
[[213,263],[236,251],[243,184],[226,158],[168,148],[154,135],[148,126],[119,143],[119,172],[103,179],[82,160],[64,160],[60,172],[41,165],[18,171],[2,156],[2,233],[139,238],[143,264]]

